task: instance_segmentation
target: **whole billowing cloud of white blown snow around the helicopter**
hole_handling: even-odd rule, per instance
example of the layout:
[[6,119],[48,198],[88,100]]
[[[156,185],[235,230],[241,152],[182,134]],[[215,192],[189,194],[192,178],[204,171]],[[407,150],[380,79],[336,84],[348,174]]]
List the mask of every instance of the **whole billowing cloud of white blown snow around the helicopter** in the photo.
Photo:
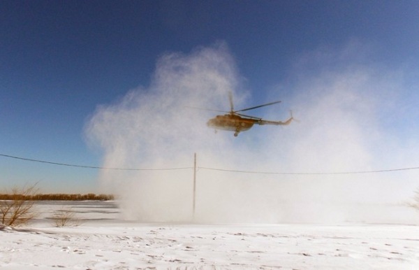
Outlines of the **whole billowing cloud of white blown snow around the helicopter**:
[[[318,62],[319,54],[313,55],[310,61]],[[351,54],[344,50],[343,55]],[[105,167],[186,169],[105,170],[100,176],[105,192],[120,198],[127,219],[191,221],[196,152],[196,222],[374,221],[376,211],[360,205],[405,199],[418,184],[413,180],[416,171],[288,175],[206,169],[330,173],[404,166],[404,151],[395,154],[402,159],[396,163],[385,152],[399,144],[387,141],[395,135],[385,133],[380,124],[383,108],[391,108],[383,102],[388,97],[397,100],[399,76],[359,63],[339,68],[327,64],[317,71],[266,93],[281,98],[288,87],[290,100],[283,100],[281,108],[267,108],[266,116],[285,120],[293,108],[300,123],[255,126],[235,138],[231,132],[214,134],[206,127],[216,113],[186,108],[228,111],[229,91],[235,108],[249,100],[247,105],[257,105],[242,90],[226,45],[163,55],[152,84],[131,90],[115,104],[100,106],[87,134],[103,150]]]

